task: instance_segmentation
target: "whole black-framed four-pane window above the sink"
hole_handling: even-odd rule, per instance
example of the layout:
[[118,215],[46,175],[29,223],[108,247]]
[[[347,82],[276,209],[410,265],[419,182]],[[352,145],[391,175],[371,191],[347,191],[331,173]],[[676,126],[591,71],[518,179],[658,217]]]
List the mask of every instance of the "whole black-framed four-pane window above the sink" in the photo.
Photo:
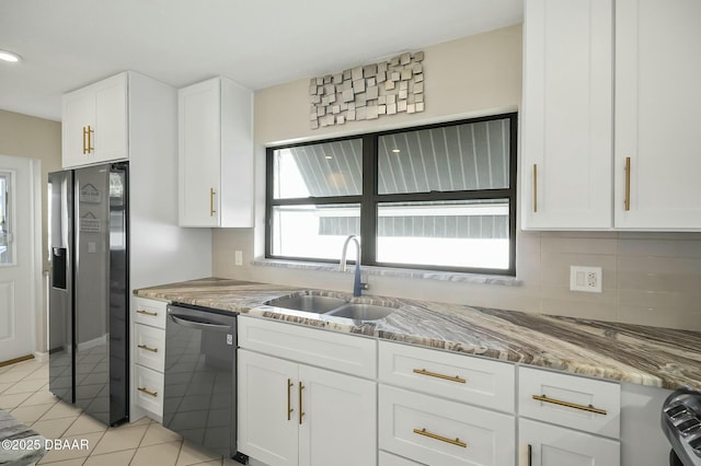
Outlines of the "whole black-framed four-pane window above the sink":
[[266,257],[515,275],[516,118],[268,148]]

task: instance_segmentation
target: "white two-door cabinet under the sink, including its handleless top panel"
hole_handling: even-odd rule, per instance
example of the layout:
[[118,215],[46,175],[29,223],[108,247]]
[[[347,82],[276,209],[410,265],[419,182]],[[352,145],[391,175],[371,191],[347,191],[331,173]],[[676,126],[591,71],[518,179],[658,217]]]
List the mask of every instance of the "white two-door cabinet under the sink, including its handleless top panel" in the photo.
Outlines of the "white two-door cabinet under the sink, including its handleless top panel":
[[[326,338],[332,333],[239,317],[238,450],[268,466],[377,465],[375,376],[366,380],[246,349],[257,348],[261,333],[275,329],[286,338],[271,341],[271,351],[288,358],[333,349],[334,338]],[[349,338],[370,347],[366,352],[371,357],[360,365],[374,368],[376,341],[335,337],[340,346]],[[345,366],[341,358],[337,362]]]

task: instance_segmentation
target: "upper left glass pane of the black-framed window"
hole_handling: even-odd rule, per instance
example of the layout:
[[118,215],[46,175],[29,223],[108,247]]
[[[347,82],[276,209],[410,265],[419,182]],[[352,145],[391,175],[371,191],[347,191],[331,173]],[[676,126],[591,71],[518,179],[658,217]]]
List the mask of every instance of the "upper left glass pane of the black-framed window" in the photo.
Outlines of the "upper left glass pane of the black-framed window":
[[354,196],[363,189],[363,141],[323,142],[273,152],[275,199]]

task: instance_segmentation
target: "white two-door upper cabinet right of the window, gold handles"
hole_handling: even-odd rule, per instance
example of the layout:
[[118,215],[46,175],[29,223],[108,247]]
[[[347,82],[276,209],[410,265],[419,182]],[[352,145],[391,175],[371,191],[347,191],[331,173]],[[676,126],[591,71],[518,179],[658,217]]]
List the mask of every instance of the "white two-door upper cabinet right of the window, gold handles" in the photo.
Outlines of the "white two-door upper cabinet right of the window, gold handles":
[[524,31],[522,228],[701,230],[701,3],[528,0]]

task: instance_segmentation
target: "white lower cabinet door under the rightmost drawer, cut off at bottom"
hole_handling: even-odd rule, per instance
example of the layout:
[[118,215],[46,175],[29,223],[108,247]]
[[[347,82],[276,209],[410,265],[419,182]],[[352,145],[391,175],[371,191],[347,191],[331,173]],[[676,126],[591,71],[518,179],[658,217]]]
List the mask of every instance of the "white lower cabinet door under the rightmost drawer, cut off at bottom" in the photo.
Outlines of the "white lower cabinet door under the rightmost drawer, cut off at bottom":
[[618,441],[527,419],[521,419],[518,427],[521,466],[620,466],[621,464]]

